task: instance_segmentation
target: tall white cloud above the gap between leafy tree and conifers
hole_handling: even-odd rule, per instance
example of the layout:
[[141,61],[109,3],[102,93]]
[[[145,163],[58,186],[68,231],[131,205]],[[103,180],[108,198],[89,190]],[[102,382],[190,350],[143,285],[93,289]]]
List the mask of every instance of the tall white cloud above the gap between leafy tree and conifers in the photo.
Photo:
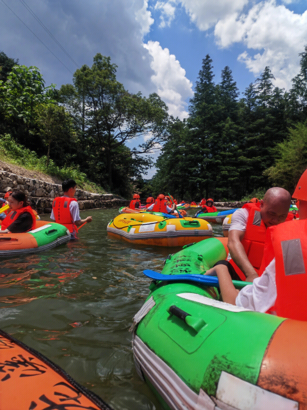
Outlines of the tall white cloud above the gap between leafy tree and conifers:
[[144,44],[152,56],[150,64],[155,72],[151,80],[157,87],[157,93],[168,105],[169,113],[183,119],[186,112],[186,98],[193,96],[192,82],[186,78],[186,71],[180,66],[175,55],[168,48],[162,48],[158,41],[148,41]]

